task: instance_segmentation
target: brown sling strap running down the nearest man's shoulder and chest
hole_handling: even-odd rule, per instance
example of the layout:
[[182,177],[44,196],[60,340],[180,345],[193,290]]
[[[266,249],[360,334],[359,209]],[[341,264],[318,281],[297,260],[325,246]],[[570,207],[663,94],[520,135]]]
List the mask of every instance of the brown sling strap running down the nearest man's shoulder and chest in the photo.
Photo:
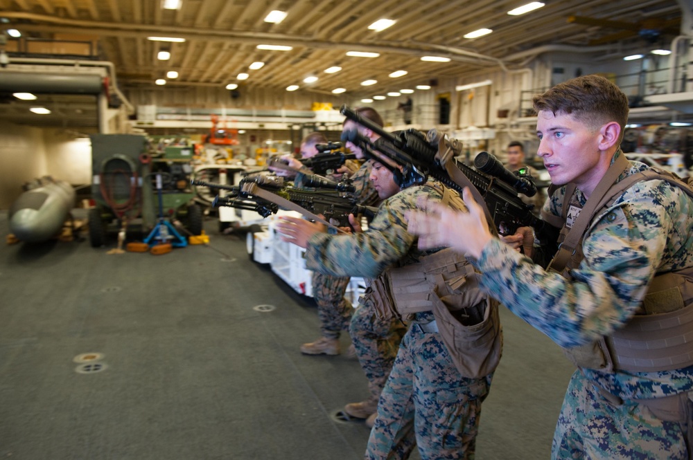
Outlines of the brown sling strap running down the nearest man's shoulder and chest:
[[[580,211],[579,216],[575,219],[575,223],[565,237],[563,243],[561,243],[561,248],[556,254],[554,259],[549,265],[552,270],[556,270],[558,273],[563,273],[563,269],[575,252],[575,248],[580,243],[580,239],[585,234],[585,230],[592,221],[592,217],[604,205],[602,199],[606,196],[606,193],[611,189],[613,183],[615,183],[618,176],[631,164],[626,160],[623,154],[620,154],[616,160],[609,166],[606,170],[606,174],[599,181],[597,187],[590,195],[590,198],[585,203],[585,207]],[[566,201],[567,203],[567,201]]]

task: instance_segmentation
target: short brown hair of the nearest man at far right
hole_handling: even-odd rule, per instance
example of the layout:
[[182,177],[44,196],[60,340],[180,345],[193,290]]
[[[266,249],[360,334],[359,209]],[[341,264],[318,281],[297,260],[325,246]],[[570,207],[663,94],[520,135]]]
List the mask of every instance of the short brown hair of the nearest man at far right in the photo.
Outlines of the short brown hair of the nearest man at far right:
[[628,97],[613,82],[599,75],[583,75],[559,83],[535,95],[532,104],[537,113],[568,113],[591,129],[617,122],[621,126],[619,142],[628,120]]

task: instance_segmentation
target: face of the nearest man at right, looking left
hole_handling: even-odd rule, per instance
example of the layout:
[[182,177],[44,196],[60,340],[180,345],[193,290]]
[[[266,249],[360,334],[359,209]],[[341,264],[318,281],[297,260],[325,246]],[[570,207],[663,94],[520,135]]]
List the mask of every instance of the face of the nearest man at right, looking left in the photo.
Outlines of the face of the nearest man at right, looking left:
[[590,129],[572,115],[543,110],[536,118],[536,134],[537,154],[544,160],[552,183],[574,182],[587,194],[594,190],[604,175],[599,167],[604,161],[598,147],[599,129]]

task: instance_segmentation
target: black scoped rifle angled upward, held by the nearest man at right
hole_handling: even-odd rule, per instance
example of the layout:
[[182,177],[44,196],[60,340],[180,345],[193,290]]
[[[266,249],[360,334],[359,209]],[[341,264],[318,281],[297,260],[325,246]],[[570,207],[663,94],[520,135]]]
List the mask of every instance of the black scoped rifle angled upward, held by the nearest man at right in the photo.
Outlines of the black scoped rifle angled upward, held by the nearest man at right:
[[527,196],[536,193],[532,178],[509,172],[493,155],[486,152],[478,154],[475,167],[481,170],[477,171],[464,163],[455,164],[453,158],[461,153],[462,145],[435,129],[426,135],[416,129],[392,134],[347,106],[342,106],[340,112],[349,120],[380,135],[375,142],[371,142],[353,130],[342,134],[342,141],[350,140],[359,145],[369,158],[380,163],[382,155],[393,160],[401,169],[383,164],[394,173],[394,180],[400,187],[422,185],[431,176],[460,195],[464,187],[469,187],[475,200],[486,204],[490,214],[488,217],[493,219],[500,234],[514,234],[518,227],[523,226],[539,230],[544,227],[545,222],[532,214],[533,206],[525,204],[518,196],[518,192]]

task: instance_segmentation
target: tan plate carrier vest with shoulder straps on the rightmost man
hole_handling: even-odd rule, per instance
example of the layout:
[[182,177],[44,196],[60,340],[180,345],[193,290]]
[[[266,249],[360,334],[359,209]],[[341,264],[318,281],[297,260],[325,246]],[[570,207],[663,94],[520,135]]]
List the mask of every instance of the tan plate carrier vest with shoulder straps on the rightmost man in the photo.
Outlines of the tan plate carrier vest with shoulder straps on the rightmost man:
[[[572,228],[565,226],[565,215],[575,189],[573,184],[569,184],[566,190],[563,219],[542,216],[554,226],[561,227],[560,250],[551,261],[549,270],[570,279],[570,270],[577,268],[584,257],[582,239],[588,224],[599,212],[606,212],[634,183],[653,179],[668,181],[693,199],[693,187],[662,169],[631,174],[614,183],[628,167],[630,163],[623,154],[618,156]],[[608,337],[564,351],[578,367],[607,372],[672,371],[693,365],[693,268],[658,273],[648,286],[640,311],[625,326]]]

